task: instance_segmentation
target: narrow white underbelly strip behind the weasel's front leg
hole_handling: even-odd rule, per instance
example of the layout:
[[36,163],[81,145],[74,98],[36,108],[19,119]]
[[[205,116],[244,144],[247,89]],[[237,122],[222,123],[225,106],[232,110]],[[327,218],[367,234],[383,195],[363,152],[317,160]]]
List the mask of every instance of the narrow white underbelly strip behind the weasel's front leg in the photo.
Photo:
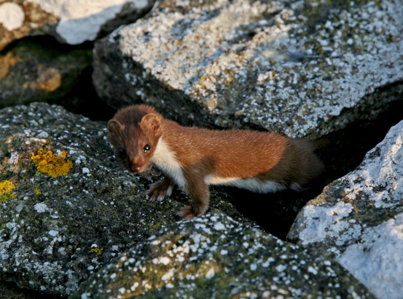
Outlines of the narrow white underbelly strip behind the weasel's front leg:
[[246,189],[256,193],[273,193],[286,190],[287,186],[275,181],[260,181],[255,178],[220,178],[213,175],[207,176],[205,182],[208,185],[225,185]]

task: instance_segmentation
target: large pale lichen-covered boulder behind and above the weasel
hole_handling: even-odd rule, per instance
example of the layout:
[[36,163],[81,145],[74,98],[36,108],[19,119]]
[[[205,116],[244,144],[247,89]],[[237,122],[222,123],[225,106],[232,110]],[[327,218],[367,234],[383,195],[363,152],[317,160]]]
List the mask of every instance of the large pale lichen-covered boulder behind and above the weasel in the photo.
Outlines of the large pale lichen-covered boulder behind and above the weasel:
[[305,136],[403,94],[390,86],[403,79],[401,0],[194,3],[162,2],[97,42],[101,98],[163,107],[182,123]]

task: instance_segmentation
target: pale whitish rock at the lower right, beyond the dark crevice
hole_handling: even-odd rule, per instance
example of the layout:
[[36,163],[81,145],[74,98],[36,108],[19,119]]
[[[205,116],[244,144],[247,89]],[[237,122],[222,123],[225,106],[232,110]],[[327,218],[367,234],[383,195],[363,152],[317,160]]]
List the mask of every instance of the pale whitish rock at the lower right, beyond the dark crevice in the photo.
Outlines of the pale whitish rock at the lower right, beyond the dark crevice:
[[403,121],[298,214],[291,241],[322,250],[378,298],[403,286]]

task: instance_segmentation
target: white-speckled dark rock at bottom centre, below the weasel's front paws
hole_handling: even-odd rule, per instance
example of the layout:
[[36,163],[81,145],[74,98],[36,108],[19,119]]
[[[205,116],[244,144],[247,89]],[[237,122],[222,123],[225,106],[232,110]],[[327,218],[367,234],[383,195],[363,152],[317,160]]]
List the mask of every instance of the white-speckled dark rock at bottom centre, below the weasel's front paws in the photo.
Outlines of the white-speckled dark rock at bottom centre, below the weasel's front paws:
[[304,297],[373,296],[331,259],[220,213],[163,229],[98,271],[70,299]]

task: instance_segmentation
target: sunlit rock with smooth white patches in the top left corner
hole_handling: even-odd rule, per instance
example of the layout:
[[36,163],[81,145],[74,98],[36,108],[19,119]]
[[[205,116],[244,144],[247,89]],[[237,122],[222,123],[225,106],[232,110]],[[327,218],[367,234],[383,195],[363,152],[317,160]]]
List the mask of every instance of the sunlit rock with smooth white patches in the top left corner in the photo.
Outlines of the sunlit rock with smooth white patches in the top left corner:
[[93,41],[149,11],[151,0],[12,0],[0,4],[0,50],[25,36],[52,35],[68,44]]

